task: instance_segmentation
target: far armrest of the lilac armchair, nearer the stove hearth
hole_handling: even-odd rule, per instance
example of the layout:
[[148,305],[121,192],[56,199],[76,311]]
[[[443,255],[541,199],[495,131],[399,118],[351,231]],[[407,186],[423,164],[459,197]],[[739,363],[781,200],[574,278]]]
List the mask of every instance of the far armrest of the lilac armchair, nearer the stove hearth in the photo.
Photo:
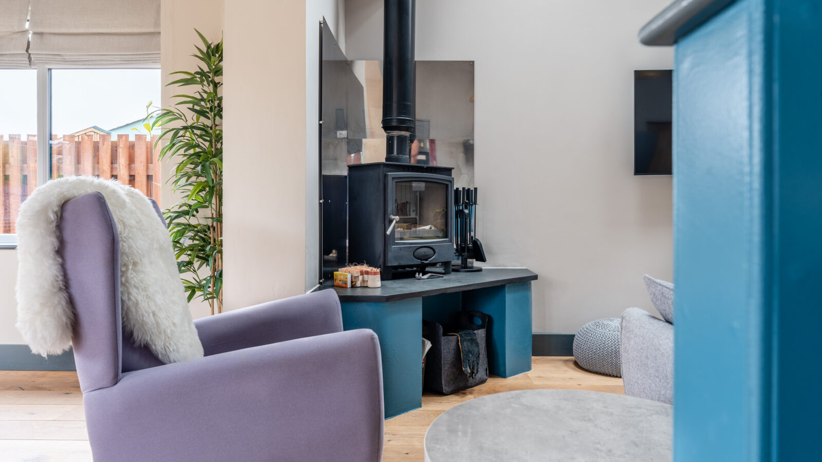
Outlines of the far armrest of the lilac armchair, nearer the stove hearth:
[[205,356],[343,330],[339,298],[321,290],[194,321]]

